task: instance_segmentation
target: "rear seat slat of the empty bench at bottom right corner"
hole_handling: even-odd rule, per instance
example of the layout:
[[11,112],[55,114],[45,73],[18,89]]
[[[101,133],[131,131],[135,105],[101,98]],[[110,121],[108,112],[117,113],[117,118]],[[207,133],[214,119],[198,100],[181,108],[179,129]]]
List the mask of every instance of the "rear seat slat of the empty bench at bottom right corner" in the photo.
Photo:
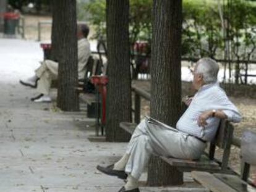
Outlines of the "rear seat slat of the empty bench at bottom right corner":
[[216,178],[221,180],[221,182],[226,183],[231,188],[239,192],[252,192],[256,191],[253,186],[248,185],[248,183],[241,180],[241,178],[237,177],[237,175],[228,175],[228,174],[221,174],[221,173],[214,173],[213,174]]

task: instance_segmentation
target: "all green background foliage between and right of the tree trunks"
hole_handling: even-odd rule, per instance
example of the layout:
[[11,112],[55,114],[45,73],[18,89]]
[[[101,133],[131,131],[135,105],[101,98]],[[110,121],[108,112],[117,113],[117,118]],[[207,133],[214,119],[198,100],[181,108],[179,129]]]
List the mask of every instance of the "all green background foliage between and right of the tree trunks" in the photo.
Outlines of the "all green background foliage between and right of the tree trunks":
[[[220,1],[221,3],[223,1]],[[256,3],[233,0],[225,4],[224,20],[229,20],[229,35],[236,56],[250,57],[255,49]],[[151,42],[152,0],[130,0],[130,43]],[[223,4],[221,4],[223,8]],[[223,58],[223,27],[216,0],[184,0],[182,24],[182,56]],[[99,38],[106,33],[105,0],[92,0],[85,6]],[[245,49],[246,47],[246,49]],[[243,52],[244,51],[244,52]],[[250,54],[250,55],[248,55]]]

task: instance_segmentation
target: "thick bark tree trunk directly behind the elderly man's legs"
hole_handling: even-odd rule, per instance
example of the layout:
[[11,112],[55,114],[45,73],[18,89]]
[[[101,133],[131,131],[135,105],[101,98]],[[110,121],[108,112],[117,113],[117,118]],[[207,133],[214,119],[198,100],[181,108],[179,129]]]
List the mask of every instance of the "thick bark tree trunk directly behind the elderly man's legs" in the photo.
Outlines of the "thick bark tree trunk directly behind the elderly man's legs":
[[[181,115],[181,0],[153,1],[151,117],[175,127]],[[152,157],[148,185],[179,185],[182,172]]]

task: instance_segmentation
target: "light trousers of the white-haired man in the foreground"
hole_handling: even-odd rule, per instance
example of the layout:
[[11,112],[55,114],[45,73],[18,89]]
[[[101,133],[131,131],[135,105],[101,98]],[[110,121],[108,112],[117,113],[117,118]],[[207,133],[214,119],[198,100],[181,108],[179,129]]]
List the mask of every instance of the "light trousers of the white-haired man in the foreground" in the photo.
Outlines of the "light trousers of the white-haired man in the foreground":
[[127,146],[126,172],[139,180],[151,154],[178,159],[198,159],[207,144],[155,119],[146,117]]

